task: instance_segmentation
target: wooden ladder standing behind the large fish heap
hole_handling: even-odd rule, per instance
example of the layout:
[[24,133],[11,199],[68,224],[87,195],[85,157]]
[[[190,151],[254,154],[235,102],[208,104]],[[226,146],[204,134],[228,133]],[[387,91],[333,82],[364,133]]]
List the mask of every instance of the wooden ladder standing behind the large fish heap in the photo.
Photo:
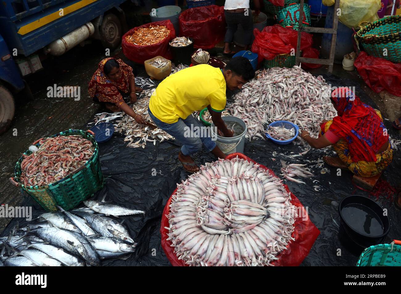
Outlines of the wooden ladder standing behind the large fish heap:
[[[296,53],[296,64],[300,62],[314,63],[314,64],[324,64],[328,65],[328,71],[333,71],[334,64],[334,52],[336,50],[336,39],[337,39],[337,26],[338,26],[338,15],[337,10],[340,7],[340,0],[336,0],[334,3],[334,12],[333,12],[333,28],[312,28],[312,27],[303,27],[302,21],[304,16],[304,0],[301,0],[300,5],[300,17],[298,19],[298,43],[297,43],[297,53]],[[329,59],[318,59],[318,58],[305,58],[300,56],[300,48],[301,48],[301,32],[308,33],[325,33],[332,34],[331,38],[331,47],[330,47],[330,57]]]

